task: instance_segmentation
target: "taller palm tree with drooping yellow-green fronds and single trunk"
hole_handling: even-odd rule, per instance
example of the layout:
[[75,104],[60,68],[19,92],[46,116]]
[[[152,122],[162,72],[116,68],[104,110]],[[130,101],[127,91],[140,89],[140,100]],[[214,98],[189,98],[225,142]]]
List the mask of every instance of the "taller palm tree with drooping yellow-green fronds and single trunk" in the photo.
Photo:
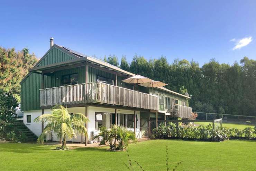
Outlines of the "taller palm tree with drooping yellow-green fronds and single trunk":
[[66,148],[66,140],[76,137],[76,134],[83,134],[88,137],[84,123],[90,122],[89,119],[81,113],[71,114],[62,105],[53,107],[52,114],[44,114],[35,118],[34,122],[44,122],[47,125],[42,134],[38,137],[37,143],[44,144],[47,135],[54,132],[58,139],[62,140],[62,149]]

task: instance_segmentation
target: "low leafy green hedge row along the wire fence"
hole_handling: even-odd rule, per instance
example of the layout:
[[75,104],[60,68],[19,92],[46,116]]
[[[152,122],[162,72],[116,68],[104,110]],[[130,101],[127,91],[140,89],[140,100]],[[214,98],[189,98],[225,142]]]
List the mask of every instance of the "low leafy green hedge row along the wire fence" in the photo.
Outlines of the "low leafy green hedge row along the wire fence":
[[152,130],[153,138],[157,139],[194,139],[205,141],[224,141],[227,139],[255,139],[256,129],[246,127],[244,130],[235,128],[219,127],[212,129],[209,124],[207,126],[200,125],[194,127],[192,125],[177,125],[173,122],[161,123],[156,129]]

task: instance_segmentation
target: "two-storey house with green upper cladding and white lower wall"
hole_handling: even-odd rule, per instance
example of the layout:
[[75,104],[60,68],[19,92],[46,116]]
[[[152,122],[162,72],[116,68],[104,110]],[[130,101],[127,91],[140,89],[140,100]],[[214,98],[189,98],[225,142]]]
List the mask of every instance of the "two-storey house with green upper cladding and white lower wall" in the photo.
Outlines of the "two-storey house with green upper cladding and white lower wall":
[[[135,91],[133,84],[122,82],[135,74],[53,44],[53,39],[50,42],[50,49],[20,83],[24,124],[37,136],[45,125],[34,119],[51,113],[51,107],[58,104],[89,118],[89,136],[97,134],[102,125],[110,128],[119,124],[140,138],[148,136],[150,118],[190,117],[189,96],[164,87],[138,86],[139,91]],[[56,137],[54,140],[58,141]],[[85,141],[85,137],[70,141]]]

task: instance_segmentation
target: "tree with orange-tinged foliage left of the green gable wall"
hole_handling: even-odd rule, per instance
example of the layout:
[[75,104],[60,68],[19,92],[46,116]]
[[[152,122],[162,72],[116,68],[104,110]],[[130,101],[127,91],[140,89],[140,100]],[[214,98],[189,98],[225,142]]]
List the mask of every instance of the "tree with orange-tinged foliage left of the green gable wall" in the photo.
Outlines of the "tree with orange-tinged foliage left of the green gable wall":
[[29,54],[27,48],[16,52],[14,48],[0,47],[0,88],[13,94],[19,101],[19,83],[36,62],[35,55]]

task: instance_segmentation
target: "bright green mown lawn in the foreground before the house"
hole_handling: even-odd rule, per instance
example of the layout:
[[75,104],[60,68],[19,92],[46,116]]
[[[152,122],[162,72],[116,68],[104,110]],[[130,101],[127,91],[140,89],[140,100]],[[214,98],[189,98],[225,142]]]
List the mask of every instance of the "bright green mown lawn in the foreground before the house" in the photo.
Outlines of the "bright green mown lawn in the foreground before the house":
[[[150,140],[131,144],[129,154],[144,170],[166,170],[165,145],[170,165],[177,170],[255,170],[256,141],[203,142]],[[126,152],[106,148],[56,151],[54,146],[30,143],[0,143],[0,170],[127,170]],[[136,170],[139,170],[138,168]]]

